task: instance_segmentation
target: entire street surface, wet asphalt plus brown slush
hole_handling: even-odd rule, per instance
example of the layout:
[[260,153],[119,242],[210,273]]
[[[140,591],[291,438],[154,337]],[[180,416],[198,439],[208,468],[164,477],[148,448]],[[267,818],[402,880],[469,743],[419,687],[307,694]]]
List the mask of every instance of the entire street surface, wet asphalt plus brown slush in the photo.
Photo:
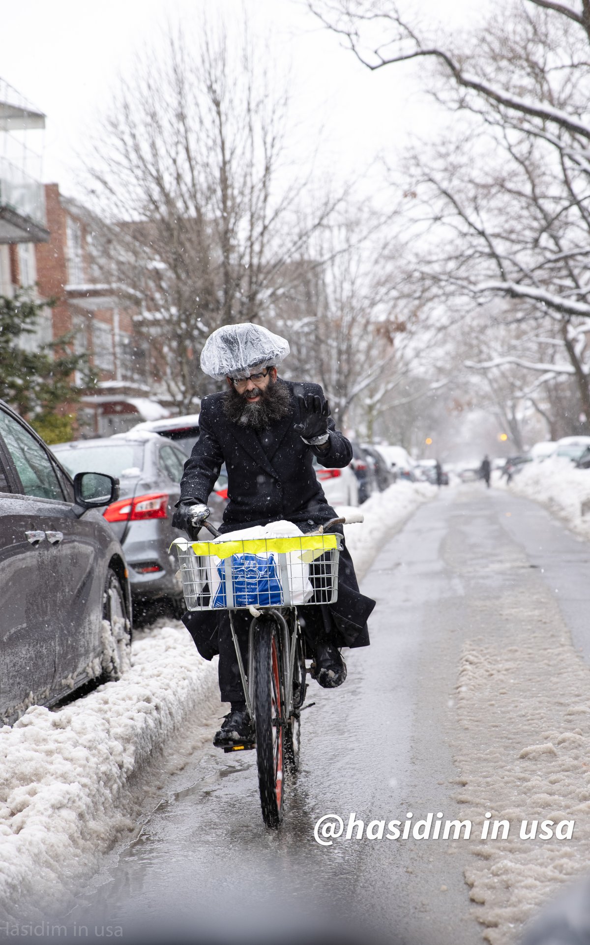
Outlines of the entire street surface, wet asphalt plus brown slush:
[[[164,935],[206,921],[252,928],[278,909],[336,917],[364,940],[516,942],[590,861],[590,641],[582,621],[575,645],[570,632],[587,571],[586,544],[537,505],[480,484],[443,490],[365,578],[378,605],[372,646],[350,652],[345,686],[308,694],[317,705],[281,831],[262,825],[253,755],[205,744],[185,753],[141,836],[72,915]],[[351,812],[365,829],[441,812],[472,834],[379,839],[377,823],[373,839],[320,847],[317,819]],[[486,814],[508,822],[507,837],[500,826],[481,839]],[[562,839],[521,839],[534,819],[573,820],[573,836],[565,826]]]

